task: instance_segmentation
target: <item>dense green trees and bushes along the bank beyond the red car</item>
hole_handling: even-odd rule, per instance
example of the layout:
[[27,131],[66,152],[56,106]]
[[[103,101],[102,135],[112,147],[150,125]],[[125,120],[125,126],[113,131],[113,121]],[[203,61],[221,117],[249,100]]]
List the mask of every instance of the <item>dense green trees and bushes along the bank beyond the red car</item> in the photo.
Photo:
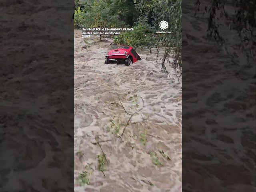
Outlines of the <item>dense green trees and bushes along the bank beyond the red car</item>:
[[[135,49],[164,49],[162,70],[167,72],[168,63],[175,69],[181,69],[181,0],[88,0],[87,3],[74,1],[76,28],[133,27],[134,31],[114,36],[114,42],[130,45]],[[161,31],[159,22],[162,20],[168,22],[168,31],[172,33],[156,33],[156,30]],[[171,54],[174,56],[173,62],[168,60]],[[156,57],[158,58],[158,54]]]

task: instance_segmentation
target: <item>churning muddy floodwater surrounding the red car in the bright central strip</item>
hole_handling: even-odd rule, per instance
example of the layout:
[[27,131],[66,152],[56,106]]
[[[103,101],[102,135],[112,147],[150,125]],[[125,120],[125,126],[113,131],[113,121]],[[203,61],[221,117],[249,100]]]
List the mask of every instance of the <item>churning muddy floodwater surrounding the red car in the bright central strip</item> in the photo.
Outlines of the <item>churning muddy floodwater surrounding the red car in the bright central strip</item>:
[[74,191],[180,192],[182,83],[155,50],[104,64],[110,43],[74,34]]

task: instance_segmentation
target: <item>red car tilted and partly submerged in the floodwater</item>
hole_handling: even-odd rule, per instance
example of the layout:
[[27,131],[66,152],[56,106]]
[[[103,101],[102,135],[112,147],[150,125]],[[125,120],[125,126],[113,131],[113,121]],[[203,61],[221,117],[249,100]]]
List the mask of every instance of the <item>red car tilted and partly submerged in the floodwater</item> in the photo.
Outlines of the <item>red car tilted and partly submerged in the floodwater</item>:
[[105,64],[117,62],[117,64],[125,64],[128,66],[138,60],[141,60],[141,58],[131,46],[118,46],[118,48],[108,52]]

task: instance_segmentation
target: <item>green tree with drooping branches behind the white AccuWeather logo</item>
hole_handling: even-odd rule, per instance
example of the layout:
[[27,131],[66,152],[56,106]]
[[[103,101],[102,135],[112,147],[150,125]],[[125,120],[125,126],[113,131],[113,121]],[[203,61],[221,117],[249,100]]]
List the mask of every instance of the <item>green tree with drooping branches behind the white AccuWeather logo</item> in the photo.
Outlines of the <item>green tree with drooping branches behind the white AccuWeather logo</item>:
[[[158,28],[159,22],[168,21],[168,29],[172,32],[159,34],[157,37],[158,50],[164,47],[165,52],[162,58],[162,70],[166,70],[166,64],[174,67],[176,72],[182,74],[182,11],[181,0],[142,0],[140,12],[152,11],[152,22]],[[174,52],[174,62],[168,59],[171,52]],[[157,55],[158,58],[158,55]]]

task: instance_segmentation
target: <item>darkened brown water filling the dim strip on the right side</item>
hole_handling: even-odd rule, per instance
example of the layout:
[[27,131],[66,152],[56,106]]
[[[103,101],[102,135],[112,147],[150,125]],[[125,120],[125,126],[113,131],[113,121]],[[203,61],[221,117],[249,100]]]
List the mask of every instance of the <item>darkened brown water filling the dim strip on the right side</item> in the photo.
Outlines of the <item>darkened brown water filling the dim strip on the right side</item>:
[[246,46],[247,58],[240,47],[246,44],[244,32],[239,36],[234,28],[236,9],[227,1],[225,12],[234,19],[221,16],[219,9],[214,20],[224,42],[210,40],[210,12],[204,9],[213,1],[200,0],[195,15],[196,2],[182,2],[183,66],[189,66],[182,77],[187,85],[183,116],[191,122],[186,128],[183,124],[183,185],[197,192],[255,191],[255,33]]

